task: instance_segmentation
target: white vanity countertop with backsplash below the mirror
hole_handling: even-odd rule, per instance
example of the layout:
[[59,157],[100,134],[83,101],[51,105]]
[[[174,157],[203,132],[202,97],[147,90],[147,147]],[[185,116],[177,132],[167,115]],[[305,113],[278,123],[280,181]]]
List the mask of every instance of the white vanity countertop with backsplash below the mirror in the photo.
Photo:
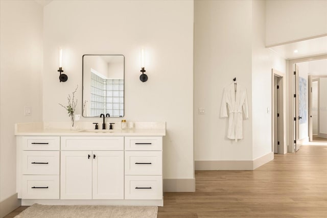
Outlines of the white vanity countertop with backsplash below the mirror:
[[[80,128],[71,130],[66,127],[66,123],[20,123],[15,124],[15,135],[30,136],[165,136],[165,122],[135,122],[135,128],[128,130],[94,130],[90,128]],[[89,124],[80,126],[89,127]],[[46,128],[44,128],[46,127]]]

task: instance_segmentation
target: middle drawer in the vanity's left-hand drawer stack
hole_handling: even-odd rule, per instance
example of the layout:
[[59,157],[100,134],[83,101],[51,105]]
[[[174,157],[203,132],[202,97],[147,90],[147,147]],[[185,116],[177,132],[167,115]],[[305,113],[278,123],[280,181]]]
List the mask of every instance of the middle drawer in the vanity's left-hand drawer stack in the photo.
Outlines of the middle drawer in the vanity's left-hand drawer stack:
[[59,175],[59,151],[23,151],[22,174]]

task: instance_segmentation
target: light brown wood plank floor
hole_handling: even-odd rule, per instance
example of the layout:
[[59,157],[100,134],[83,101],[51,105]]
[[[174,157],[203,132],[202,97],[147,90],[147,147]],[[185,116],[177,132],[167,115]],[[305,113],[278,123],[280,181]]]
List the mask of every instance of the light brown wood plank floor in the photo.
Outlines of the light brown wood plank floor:
[[158,218],[327,217],[327,146],[275,154],[254,171],[196,171],[195,177],[196,192],[165,192]]

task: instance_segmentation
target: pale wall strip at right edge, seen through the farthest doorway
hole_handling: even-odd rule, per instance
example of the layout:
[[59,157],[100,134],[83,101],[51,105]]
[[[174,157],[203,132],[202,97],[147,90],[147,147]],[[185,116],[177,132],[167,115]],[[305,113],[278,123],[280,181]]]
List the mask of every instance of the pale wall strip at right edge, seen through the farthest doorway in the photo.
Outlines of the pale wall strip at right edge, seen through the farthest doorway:
[[327,138],[327,78],[319,78],[319,135]]

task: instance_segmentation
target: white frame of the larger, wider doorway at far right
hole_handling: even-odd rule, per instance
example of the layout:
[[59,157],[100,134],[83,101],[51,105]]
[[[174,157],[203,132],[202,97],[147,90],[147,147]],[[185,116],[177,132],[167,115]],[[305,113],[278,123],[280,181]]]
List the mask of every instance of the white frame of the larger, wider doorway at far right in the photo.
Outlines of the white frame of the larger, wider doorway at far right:
[[288,147],[287,151],[290,153],[294,153],[294,111],[295,111],[295,105],[294,105],[294,84],[293,84],[293,74],[294,74],[294,64],[300,63],[300,62],[307,62],[307,61],[315,61],[315,60],[321,60],[321,59],[327,59],[327,54],[324,55],[316,55],[311,57],[305,57],[305,58],[295,58],[287,60],[287,80],[288,80],[288,90],[287,90],[287,99],[288,101]]

